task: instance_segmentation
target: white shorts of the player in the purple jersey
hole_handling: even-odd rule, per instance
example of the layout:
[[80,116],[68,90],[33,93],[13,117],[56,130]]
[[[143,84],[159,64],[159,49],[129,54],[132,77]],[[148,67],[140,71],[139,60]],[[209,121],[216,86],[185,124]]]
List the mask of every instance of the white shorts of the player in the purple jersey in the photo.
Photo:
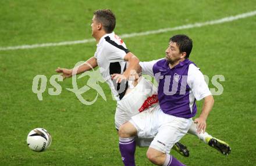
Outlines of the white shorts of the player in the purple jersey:
[[160,106],[143,111],[129,121],[137,129],[138,138],[151,138],[150,147],[170,153],[172,146],[189,130],[192,118],[180,118],[163,113]]

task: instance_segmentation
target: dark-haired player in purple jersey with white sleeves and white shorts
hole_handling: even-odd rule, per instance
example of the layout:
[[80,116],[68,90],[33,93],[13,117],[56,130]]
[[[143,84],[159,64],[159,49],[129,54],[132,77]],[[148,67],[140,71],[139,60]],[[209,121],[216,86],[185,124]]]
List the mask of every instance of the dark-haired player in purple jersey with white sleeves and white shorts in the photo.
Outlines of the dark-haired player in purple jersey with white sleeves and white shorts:
[[[195,118],[197,133],[205,133],[206,120],[214,105],[214,99],[204,81],[204,76],[188,58],[192,40],[186,35],[175,35],[169,40],[165,59],[140,63],[144,74],[154,76],[158,81],[159,105],[131,117],[119,129],[120,152],[123,161],[134,161],[134,136],[154,136],[147,151],[148,159],[156,165],[183,165],[169,152],[193,124],[197,113],[196,100],[204,99],[200,117]],[[208,135],[209,136],[209,135]],[[214,139],[209,136],[208,139]],[[214,139],[218,142],[218,139]],[[207,140],[210,144],[210,140]],[[230,153],[230,147],[219,140]],[[216,145],[218,146],[218,145]],[[216,147],[215,147],[216,148]],[[129,163],[125,165],[135,165]]]

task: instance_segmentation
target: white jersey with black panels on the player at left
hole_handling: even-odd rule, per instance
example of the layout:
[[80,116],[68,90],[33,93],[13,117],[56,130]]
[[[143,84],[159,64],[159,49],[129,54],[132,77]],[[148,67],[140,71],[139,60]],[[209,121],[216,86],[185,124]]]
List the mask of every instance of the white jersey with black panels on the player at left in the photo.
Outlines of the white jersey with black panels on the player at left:
[[126,70],[126,62],[124,57],[126,53],[130,52],[115,33],[105,34],[97,44],[97,50],[94,57],[97,59],[99,71],[106,83],[111,88],[116,100],[120,100],[125,95],[128,87],[127,82],[116,84],[111,80],[111,74],[123,74]]

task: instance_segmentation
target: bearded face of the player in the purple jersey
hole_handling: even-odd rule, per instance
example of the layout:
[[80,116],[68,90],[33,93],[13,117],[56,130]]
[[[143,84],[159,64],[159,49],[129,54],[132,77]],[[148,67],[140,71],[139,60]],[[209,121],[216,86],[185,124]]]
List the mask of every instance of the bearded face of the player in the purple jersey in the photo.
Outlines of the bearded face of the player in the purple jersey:
[[182,59],[182,53],[180,52],[176,42],[169,42],[168,48],[165,50],[165,58],[170,64],[175,64]]

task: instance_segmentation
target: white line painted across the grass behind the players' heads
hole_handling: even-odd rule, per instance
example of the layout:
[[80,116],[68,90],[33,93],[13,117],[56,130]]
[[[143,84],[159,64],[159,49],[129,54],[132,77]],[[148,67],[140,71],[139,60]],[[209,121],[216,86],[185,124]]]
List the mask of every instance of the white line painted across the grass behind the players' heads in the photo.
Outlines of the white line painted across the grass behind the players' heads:
[[[203,23],[187,24],[184,26],[178,26],[178,27],[173,27],[173,28],[163,28],[163,29],[159,29],[159,30],[145,31],[142,33],[123,34],[123,35],[120,35],[120,37],[121,38],[131,38],[131,37],[138,37],[138,36],[144,36],[144,35],[150,35],[150,34],[166,33],[166,32],[175,31],[175,30],[184,30],[184,29],[195,28],[195,27],[203,27],[203,26],[208,26],[208,25],[226,23],[226,22],[230,22],[230,21],[234,21],[234,20],[238,20],[238,19],[244,19],[246,17],[252,17],[255,15],[256,15],[256,10],[254,10],[252,12],[236,15],[236,16],[224,17],[224,18],[218,19],[218,20],[206,21]],[[95,39],[84,39],[84,40],[80,40],[80,41],[64,41],[64,42],[46,43],[46,44],[7,46],[7,47],[0,47],[0,50],[33,49],[33,48],[40,48],[40,47],[47,47],[47,46],[85,44],[87,42],[94,42],[94,41],[95,41]]]

